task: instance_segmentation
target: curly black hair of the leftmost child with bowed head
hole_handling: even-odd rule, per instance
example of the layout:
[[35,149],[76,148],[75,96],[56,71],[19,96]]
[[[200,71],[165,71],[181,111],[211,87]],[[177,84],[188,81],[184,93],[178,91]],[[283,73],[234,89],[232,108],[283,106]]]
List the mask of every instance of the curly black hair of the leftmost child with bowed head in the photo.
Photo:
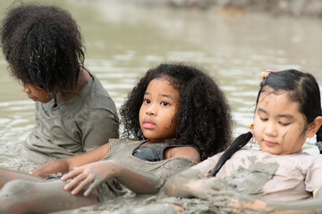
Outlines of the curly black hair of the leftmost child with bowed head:
[[69,12],[51,5],[19,4],[6,14],[0,35],[14,78],[47,92],[72,92],[84,67],[85,45]]

